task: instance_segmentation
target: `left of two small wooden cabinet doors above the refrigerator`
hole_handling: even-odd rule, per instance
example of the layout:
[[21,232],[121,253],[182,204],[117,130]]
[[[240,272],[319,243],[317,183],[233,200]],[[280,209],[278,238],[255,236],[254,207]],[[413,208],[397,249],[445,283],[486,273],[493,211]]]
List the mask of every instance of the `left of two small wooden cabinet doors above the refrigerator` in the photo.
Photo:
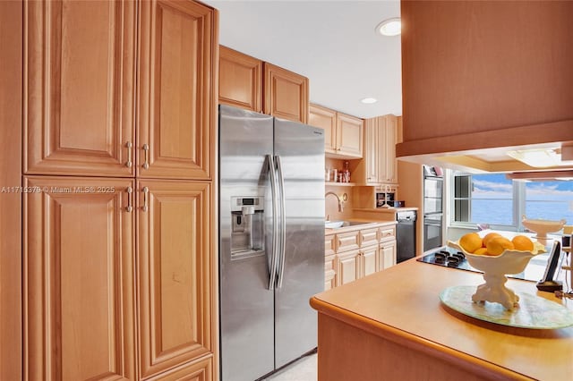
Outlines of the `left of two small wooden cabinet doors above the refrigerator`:
[[261,113],[262,61],[223,46],[218,54],[218,102]]

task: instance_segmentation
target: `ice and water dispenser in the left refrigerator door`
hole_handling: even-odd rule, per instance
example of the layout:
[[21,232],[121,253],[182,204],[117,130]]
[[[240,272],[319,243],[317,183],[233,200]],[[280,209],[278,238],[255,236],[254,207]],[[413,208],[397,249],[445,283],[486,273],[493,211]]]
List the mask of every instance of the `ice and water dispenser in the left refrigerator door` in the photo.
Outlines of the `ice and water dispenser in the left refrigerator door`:
[[231,259],[264,253],[262,197],[231,198]]

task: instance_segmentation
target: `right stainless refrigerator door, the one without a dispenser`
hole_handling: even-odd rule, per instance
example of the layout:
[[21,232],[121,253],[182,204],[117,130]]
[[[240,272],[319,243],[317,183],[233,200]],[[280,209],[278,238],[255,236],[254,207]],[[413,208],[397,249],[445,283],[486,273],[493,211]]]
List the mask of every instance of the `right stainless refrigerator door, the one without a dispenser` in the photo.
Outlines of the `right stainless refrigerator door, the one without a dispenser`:
[[275,118],[275,156],[284,175],[286,210],[282,284],[275,290],[279,368],[317,345],[317,316],[309,300],[324,291],[323,131]]

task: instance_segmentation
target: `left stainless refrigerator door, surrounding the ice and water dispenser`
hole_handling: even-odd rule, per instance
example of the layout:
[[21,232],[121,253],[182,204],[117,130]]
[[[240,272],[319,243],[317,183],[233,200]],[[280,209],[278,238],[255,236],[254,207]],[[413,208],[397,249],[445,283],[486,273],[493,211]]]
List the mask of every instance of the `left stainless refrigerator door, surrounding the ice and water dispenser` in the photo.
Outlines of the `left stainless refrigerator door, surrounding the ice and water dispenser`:
[[[221,379],[252,381],[274,369],[274,292],[269,290],[272,205],[268,163],[273,122],[269,115],[219,108],[219,290]],[[231,259],[231,202],[264,200],[262,253]],[[247,201],[248,202],[248,201]],[[236,206],[234,206],[236,207]],[[240,218],[236,216],[235,218]],[[238,240],[237,240],[238,241]]]

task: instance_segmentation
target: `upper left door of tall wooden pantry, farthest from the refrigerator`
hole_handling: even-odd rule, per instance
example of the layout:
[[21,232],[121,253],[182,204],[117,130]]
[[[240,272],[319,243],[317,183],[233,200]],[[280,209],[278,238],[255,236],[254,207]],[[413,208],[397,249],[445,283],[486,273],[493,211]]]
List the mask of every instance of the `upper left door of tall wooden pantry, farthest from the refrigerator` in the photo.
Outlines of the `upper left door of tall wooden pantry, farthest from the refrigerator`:
[[135,4],[24,7],[24,173],[133,176]]

